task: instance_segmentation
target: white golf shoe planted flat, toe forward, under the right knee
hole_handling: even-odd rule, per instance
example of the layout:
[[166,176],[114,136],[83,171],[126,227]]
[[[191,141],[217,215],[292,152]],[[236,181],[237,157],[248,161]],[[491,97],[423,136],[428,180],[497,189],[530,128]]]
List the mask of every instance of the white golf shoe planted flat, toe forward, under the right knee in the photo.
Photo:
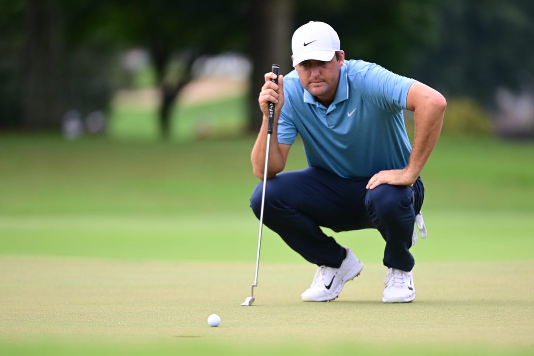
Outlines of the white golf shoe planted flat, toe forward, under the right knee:
[[386,285],[382,298],[384,303],[410,303],[415,299],[412,272],[388,268],[384,284]]

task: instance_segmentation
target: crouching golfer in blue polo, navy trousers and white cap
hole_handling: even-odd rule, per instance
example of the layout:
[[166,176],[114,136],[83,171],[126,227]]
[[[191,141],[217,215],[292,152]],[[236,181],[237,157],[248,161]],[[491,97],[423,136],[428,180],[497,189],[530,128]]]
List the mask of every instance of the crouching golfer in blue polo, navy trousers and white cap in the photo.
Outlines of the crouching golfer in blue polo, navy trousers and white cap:
[[[410,253],[424,188],[419,177],[438,140],[445,98],[436,90],[367,63],[345,59],[335,30],[310,21],[292,38],[294,71],[265,74],[258,102],[263,124],[252,150],[254,174],[263,179],[268,103],[276,104],[269,151],[263,222],[305,260],[319,266],[305,301],[337,298],[362,262],[327,236],[377,229],[386,241],[384,303],[415,298]],[[403,109],[414,112],[411,145]],[[281,173],[297,135],[308,167]],[[250,198],[260,218],[262,183]],[[422,231],[421,231],[421,235]],[[417,238],[417,234],[415,235]]]

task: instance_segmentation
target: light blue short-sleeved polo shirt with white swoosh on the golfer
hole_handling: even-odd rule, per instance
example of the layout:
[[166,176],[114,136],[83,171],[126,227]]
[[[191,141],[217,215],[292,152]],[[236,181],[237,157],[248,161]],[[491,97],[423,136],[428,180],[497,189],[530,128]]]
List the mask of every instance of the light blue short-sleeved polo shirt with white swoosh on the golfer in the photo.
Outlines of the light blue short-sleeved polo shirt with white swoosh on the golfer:
[[404,126],[413,79],[363,60],[345,60],[334,102],[327,108],[305,90],[296,71],[284,77],[278,142],[304,143],[308,164],[345,178],[402,169],[412,150]]

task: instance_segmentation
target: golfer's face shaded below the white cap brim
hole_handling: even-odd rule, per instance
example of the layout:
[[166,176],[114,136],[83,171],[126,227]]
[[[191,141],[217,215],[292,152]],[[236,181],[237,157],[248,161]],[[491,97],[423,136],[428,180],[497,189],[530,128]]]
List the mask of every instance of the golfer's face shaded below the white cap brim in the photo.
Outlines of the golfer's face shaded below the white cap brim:
[[310,59],[295,66],[302,86],[325,106],[333,102],[339,82],[339,68],[345,58],[344,52],[339,52],[339,60],[334,55],[328,62]]

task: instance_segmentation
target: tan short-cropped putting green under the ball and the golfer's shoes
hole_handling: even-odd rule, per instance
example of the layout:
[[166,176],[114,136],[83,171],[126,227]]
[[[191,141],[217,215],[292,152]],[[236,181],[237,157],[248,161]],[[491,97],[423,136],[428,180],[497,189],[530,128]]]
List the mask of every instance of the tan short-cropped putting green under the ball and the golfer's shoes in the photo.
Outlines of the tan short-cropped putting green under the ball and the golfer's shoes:
[[[380,354],[402,345],[425,354],[527,354],[534,351],[533,268],[532,261],[424,262],[414,269],[414,303],[386,305],[378,264],[365,265],[335,301],[304,303],[300,293],[315,268],[265,263],[254,305],[242,307],[254,264],[5,256],[0,350],[321,354],[363,347]],[[222,318],[218,328],[207,324],[211,313]]]

